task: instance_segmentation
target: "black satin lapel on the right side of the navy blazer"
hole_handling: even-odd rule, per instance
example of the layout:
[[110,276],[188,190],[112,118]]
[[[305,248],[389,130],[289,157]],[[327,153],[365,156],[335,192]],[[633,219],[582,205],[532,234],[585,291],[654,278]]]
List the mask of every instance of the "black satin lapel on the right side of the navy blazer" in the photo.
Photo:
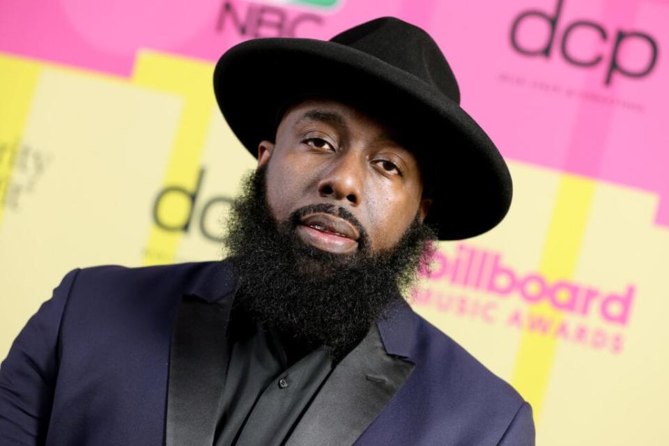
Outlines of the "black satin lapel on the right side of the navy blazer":
[[412,362],[387,355],[374,325],[332,371],[286,446],[353,444],[414,367]]

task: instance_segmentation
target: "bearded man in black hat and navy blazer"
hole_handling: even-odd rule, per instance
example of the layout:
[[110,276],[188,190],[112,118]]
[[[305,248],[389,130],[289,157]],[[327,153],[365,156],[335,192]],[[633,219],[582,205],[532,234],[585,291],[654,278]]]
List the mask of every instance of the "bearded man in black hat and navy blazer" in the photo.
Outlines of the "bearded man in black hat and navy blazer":
[[0,369],[3,444],[531,445],[530,406],[400,291],[511,179],[436,43],[386,17],[214,75],[258,158],[223,262],[70,272]]

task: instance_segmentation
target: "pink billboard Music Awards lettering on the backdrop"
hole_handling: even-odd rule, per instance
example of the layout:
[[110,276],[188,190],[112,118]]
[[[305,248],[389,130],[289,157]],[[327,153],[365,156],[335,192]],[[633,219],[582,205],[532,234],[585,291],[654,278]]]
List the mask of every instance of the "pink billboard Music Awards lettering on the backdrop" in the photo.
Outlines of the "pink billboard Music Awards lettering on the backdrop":
[[[620,330],[629,325],[636,298],[633,284],[610,292],[569,280],[551,281],[538,272],[519,272],[499,252],[464,244],[454,253],[440,249],[431,270],[421,275],[424,285],[412,294],[417,306],[612,353],[622,351]],[[551,308],[550,316],[531,311],[539,303]]]

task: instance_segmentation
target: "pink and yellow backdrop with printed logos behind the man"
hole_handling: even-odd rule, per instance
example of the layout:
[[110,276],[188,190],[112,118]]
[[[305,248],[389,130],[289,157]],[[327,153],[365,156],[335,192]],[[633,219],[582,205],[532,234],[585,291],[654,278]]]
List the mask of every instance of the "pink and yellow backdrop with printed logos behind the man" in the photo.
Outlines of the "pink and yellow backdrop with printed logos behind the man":
[[383,15],[436,39],[514,177],[413,307],[532,403],[538,444],[666,442],[667,0],[4,0],[0,357],[72,268],[224,255],[254,167],[214,102],[225,49]]

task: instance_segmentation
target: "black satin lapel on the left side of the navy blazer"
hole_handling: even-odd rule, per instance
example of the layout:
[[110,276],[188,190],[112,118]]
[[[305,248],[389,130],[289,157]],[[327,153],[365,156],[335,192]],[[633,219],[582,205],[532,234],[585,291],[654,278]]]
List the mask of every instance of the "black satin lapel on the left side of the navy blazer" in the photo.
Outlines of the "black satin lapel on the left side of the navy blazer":
[[213,444],[229,352],[226,328],[232,298],[181,300],[169,359],[167,446]]

